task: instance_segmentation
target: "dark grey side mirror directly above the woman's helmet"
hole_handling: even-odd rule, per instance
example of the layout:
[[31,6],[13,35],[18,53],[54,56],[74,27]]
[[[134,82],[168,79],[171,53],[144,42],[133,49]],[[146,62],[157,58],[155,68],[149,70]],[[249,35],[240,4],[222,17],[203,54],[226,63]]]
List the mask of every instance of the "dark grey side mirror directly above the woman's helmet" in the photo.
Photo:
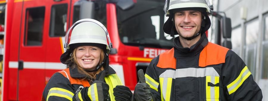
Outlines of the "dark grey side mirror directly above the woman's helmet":
[[74,8],[79,9],[79,20],[94,18],[95,4],[92,1],[81,0],[74,3]]

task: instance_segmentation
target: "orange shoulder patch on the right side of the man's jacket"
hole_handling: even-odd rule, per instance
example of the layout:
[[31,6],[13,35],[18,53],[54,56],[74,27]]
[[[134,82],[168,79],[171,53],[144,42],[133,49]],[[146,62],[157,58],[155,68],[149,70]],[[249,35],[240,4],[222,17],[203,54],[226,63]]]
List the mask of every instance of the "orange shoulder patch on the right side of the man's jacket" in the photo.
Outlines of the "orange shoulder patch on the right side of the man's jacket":
[[208,42],[208,45],[200,53],[199,67],[225,63],[228,48]]

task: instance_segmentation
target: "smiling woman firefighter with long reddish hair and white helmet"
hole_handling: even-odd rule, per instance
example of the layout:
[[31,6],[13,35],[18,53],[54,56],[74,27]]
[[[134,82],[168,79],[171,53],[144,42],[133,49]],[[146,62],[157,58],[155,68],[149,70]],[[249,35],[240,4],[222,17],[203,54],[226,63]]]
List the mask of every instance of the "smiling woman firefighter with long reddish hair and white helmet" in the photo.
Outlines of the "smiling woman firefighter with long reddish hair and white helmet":
[[42,100],[133,100],[130,89],[122,86],[116,72],[109,67],[111,47],[107,29],[100,22],[82,19],[74,23],[65,36],[66,52],[60,57],[67,68],[53,74]]

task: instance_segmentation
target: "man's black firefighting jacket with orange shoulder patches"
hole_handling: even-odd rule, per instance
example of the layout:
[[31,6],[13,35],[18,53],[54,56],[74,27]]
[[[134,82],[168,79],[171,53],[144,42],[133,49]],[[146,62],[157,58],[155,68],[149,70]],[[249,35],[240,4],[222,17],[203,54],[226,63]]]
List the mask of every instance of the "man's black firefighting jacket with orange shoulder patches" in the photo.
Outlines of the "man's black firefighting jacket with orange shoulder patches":
[[179,37],[173,44],[146,70],[146,83],[156,100],[262,100],[261,89],[247,65],[232,50],[208,42],[205,34],[190,48],[183,48]]

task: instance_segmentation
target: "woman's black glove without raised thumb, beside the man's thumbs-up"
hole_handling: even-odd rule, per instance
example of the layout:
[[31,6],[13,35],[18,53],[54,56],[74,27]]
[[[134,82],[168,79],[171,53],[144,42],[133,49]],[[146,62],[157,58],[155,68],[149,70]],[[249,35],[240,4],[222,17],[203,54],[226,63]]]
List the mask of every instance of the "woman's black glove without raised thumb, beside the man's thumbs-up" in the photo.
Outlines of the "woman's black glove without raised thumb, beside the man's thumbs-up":
[[133,101],[132,92],[127,86],[116,86],[113,95],[116,101]]

